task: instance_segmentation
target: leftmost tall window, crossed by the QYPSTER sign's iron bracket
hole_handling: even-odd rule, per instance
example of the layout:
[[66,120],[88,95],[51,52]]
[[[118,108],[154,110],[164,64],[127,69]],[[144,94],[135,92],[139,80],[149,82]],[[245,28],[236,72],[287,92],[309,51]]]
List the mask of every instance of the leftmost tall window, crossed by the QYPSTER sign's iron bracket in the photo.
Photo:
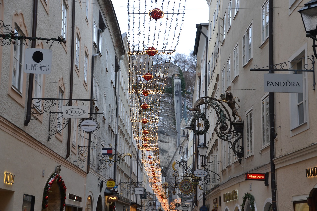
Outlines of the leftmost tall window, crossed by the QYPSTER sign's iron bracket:
[[[16,31],[16,29],[14,29],[14,32],[23,35],[20,30]],[[19,42],[16,42],[13,47],[12,87],[20,94],[22,93],[23,81],[23,42],[21,39]]]

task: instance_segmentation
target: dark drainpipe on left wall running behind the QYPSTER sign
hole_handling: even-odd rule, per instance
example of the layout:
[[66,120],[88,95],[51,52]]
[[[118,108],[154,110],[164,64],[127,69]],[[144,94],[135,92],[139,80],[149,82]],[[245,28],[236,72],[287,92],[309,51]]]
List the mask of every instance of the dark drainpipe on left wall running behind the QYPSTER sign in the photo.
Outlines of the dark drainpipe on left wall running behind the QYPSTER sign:
[[[32,37],[36,37],[37,29],[37,3],[38,0],[33,1],[33,25],[32,25]],[[32,40],[31,48],[36,48],[36,40]],[[28,102],[26,108],[26,119],[24,120],[24,126],[27,126],[31,121],[31,107],[32,107],[32,96],[33,96],[33,83],[34,74],[29,75],[29,90],[28,90]]]

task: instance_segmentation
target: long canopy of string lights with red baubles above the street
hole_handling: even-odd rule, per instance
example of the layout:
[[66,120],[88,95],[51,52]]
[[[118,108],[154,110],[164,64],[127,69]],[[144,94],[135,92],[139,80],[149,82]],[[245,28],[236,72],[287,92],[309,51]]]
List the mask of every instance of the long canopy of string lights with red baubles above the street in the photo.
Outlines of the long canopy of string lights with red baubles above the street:
[[128,0],[129,97],[133,137],[150,186],[164,210],[158,123],[171,54],[184,21],[186,0]]

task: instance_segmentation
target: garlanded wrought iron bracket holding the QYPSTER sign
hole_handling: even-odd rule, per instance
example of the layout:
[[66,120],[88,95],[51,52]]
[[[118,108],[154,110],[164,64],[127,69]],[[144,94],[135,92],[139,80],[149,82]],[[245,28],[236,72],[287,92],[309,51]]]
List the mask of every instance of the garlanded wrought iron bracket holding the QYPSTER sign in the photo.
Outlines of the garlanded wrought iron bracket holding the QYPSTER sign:
[[[24,35],[19,35],[19,33],[15,31],[19,31],[17,27],[12,29],[12,26],[10,25],[4,25],[3,21],[0,20],[0,45],[10,45],[16,44],[16,40],[46,40],[46,43],[49,43],[49,41],[52,41],[52,44],[54,41],[58,41],[58,44],[66,43],[65,38],[62,38],[61,35],[58,36],[58,38],[43,38],[43,37],[27,37]],[[18,44],[18,43],[17,43]],[[24,45],[24,43],[22,44]],[[52,45],[51,45],[52,46]]]

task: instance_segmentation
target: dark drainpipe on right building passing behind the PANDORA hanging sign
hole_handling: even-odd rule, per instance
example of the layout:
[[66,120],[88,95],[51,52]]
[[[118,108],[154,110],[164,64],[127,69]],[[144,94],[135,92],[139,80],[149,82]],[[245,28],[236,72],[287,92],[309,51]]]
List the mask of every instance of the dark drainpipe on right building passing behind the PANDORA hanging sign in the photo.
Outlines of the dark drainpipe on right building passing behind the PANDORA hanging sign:
[[[273,69],[274,64],[274,39],[273,39],[273,0],[268,1],[268,51],[269,51],[269,69]],[[274,71],[269,71],[274,74]],[[272,189],[272,208],[273,211],[277,210],[276,205],[276,179],[275,179],[275,110],[274,110],[274,93],[269,93],[269,125],[270,125],[270,158],[271,158],[271,189]]]

